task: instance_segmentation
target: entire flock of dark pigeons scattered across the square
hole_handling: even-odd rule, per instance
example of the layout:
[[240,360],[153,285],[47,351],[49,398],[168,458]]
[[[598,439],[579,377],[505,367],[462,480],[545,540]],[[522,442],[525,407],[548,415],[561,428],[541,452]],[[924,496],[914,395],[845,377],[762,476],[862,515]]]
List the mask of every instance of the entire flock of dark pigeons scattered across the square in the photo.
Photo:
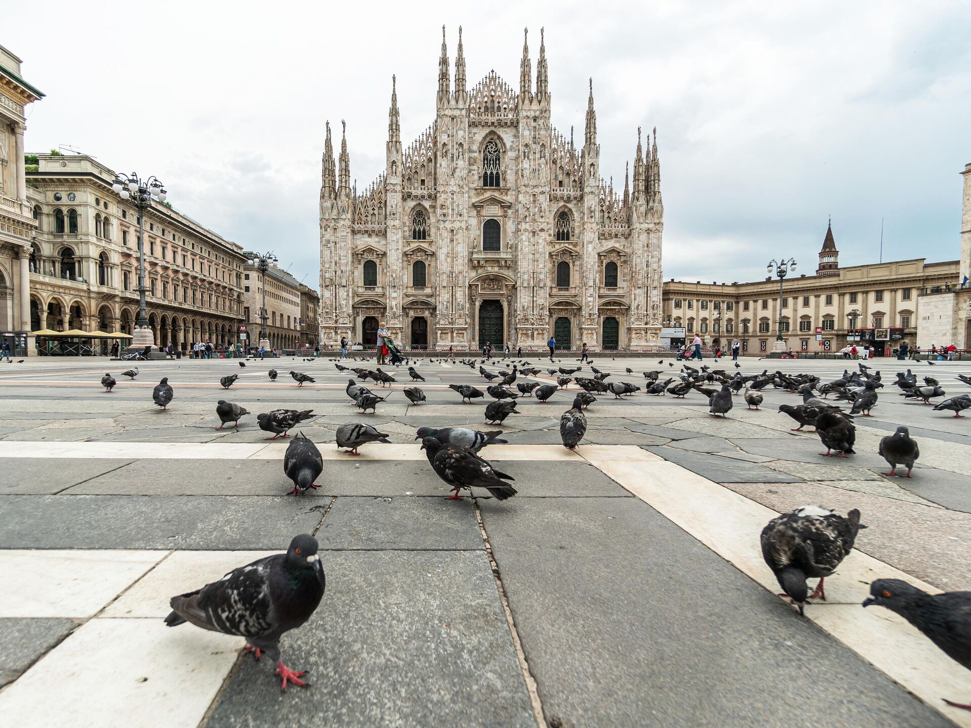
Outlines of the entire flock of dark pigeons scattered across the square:
[[[393,389],[385,390],[387,394],[379,396],[357,380],[370,380],[385,389],[397,381],[395,377],[380,367],[374,370],[349,368],[338,360],[331,361],[336,362],[335,366],[340,372],[354,374],[356,379],[348,380],[345,391],[360,414],[366,414],[368,410],[372,414],[377,413],[377,406],[387,400]],[[366,362],[363,360],[361,363]],[[500,363],[504,362],[502,360]],[[425,381],[424,377],[416,369],[418,361],[413,364],[411,360],[406,360],[404,363],[408,365],[411,380],[411,385],[403,390],[404,396],[413,405],[419,405],[426,401],[424,392],[417,385],[417,382]],[[658,362],[662,363],[663,359]],[[471,403],[487,394],[492,401],[485,407],[485,422],[492,425],[501,424],[512,414],[520,414],[516,409],[520,397],[535,397],[538,402],[546,403],[560,390],[568,390],[573,384],[579,387],[572,407],[560,417],[560,437],[563,446],[569,449],[577,447],[584,438],[584,411],[597,401],[594,395],[613,395],[615,399],[623,399],[642,390],[641,385],[626,381],[607,381],[612,375],[597,369],[592,363],[587,363],[592,375],[588,378],[577,376],[583,371],[583,366],[547,369],[545,374],[555,379],[555,383],[526,381],[544,372],[525,360],[514,361],[508,371],[496,372],[485,369],[485,360],[459,359],[457,364],[473,371],[478,366],[480,376],[487,382],[485,392],[472,384],[449,384],[449,387],[460,395],[462,403]],[[246,363],[240,362],[240,366],[245,367]],[[674,364],[669,363],[668,366],[673,367]],[[795,431],[801,431],[806,425],[815,428],[813,432],[819,435],[826,448],[820,454],[829,456],[836,452],[839,457],[846,457],[855,454],[854,417],[872,416],[872,410],[878,405],[877,390],[884,386],[880,372],[871,373],[870,368],[863,364],[858,365],[858,371],[844,371],[841,378],[828,382],[808,374],[784,374],[778,371],[769,374],[767,370],[761,374],[743,375],[737,362],[735,369],[735,373],[729,376],[722,369],[707,366],[695,369],[683,365],[678,377],[667,378],[661,376],[661,370],[648,371],[643,373],[643,389],[646,394],[653,396],[685,398],[691,393],[704,395],[708,398],[709,413],[714,417],[725,417],[733,408],[733,395],[743,389],[743,399],[749,410],[759,409],[763,402],[762,390],[770,385],[773,389],[798,394],[802,397],[802,404],[780,405],[779,412],[787,414],[799,424],[793,428]],[[630,368],[625,371],[628,375],[633,374]],[[297,386],[315,382],[313,377],[301,372],[291,371],[289,374]],[[277,375],[276,370],[270,370],[271,381],[276,381]],[[138,376],[138,369],[128,370],[122,376],[134,380]],[[223,377],[219,383],[224,389],[229,389],[238,377],[238,374]],[[971,378],[963,375],[957,375],[957,378],[971,384]],[[101,383],[107,391],[117,384],[108,374]],[[909,369],[906,373],[898,373],[896,381],[892,383],[901,390],[901,396],[926,405],[933,404],[933,399],[945,397],[945,391],[937,380],[924,377],[923,384],[920,384]],[[516,391],[511,388],[514,384]],[[830,395],[833,395],[832,400],[829,399]],[[152,400],[167,410],[173,398],[172,385],[167,378],[163,378],[152,391]],[[842,409],[837,402],[848,403],[850,409]],[[971,396],[961,394],[941,401],[933,409],[951,411],[955,417],[960,417],[960,413],[968,408],[971,408]],[[240,418],[250,414],[240,405],[225,400],[218,400],[216,413],[220,422],[217,429],[230,422],[238,428]],[[257,414],[256,419],[261,430],[273,433],[268,439],[276,440],[287,437],[289,431],[300,422],[314,416],[313,410],[281,409]],[[516,495],[516,488],[510,484],[515,479],[496,470],[479,454],[488,445],[506,443],[500,438],[502,434],[501,430],[478,431],[466,427],[419,427],[415,439],[421,441],[420,447],[435,474],[452,488],[451,500],[460,500],[463,489],[471,492],[473,487],[480,487],[485,488],[496,500],[504,501]],[[341,425],[336,432],[337,447],[345,448],[348,455],[359,454],[358,448],[370,443],[389,443],[387,438],[388,435],[363,422]],[[895,476],[897,467],[902,466],[907,470],[907,478],[911,477],[914,464],[921,454],[918,444],[904,426],[897,427],[894,434],[880,441],[879,453],[890,467],[884,475]],[[286,448],[284,472],[293,483],[293,489],[289,491],[291,495],[318,487],[315,480],[323,472],[323,458],[317,445],[302,433],[294,436]],[[843,516],[821,506],[803,506],[769,521],[761,532],[760,542],[765,563],[783,589],[780,596],[790,599],[800,614],[804,613],[806,604],[811,604],[809,600],[824,601],[824,579],[834,574],[850,553],[861,528],[866,526],[860,523],[858,510],[854,509]],[[807,579],[819,579],[812,593],[809,592]],[[276,674],[283,679],[282,689],[285,690],[287,683],[306,686],[308,683],[300,679],[305,673],[290,670],[281,660],[279,642],[285,632],[301,626],[315,612],[323,596],[324,585],[317,539],[303,534],[292,540],[285,554],[254,561],[201,589],[173,597],[173,612],[165,621],[170,626],[187,621],[203,629],[244,637],[248,644],[247,651],[254,652],[256,659],[265,652],[277,663]],[[971,670],[971,592],[932,595],[900,579],[877,579],[870,585],[870,595],[863,601],[863,607],[871,605],[900,614],[955,661]],[[946,702],[971,711],[971,705],[950,700]]]

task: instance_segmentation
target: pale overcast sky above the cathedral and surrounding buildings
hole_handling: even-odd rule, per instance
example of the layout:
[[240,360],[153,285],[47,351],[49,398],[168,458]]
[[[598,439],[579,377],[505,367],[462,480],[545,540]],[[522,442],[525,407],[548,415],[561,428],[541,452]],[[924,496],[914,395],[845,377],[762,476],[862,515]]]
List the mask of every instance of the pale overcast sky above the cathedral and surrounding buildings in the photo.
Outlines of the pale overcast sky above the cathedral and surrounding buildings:
[[[546,26],[552,123],[622,186],[657,127],[665,278],[753,281],[769,258],[959,257],[971,162],[971,3],[8,3],[0,44],[47,98],[26,146],[156,175],[187,215],[318,283],[324,120],[348,122],[358,188],[385,167],[391,74],[403,142],[434,119],[441,26],[454,75],[519,86]],[[156,10],[160,9],[160,10]],[[335,147],[339,138],[335,140]],[[335,149],[336,152],[336,149]]]

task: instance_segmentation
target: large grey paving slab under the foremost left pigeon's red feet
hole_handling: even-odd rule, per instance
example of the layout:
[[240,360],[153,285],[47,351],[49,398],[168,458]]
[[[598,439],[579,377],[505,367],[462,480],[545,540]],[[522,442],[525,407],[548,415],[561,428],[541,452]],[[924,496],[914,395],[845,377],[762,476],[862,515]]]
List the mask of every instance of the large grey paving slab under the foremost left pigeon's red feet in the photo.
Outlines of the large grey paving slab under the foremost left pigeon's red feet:
[[[329,515],[327,516],[330,517]],[[282,642],[308,689],[243,659],[208,728],[535,728],[483,551],[338,551],[312,619]]]

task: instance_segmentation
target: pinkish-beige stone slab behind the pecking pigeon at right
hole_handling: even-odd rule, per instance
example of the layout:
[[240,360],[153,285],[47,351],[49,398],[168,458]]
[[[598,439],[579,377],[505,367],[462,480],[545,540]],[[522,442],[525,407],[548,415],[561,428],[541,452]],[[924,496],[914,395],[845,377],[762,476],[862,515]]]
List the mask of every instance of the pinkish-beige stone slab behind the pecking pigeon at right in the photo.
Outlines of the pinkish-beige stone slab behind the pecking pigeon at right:
[[828,483],[724,485],[779,512],[807,503],[819,503],[839,513],[858,508],[867,525],[856,538],[858,549],[944,591],[971,590],[969,513],[928,508]]

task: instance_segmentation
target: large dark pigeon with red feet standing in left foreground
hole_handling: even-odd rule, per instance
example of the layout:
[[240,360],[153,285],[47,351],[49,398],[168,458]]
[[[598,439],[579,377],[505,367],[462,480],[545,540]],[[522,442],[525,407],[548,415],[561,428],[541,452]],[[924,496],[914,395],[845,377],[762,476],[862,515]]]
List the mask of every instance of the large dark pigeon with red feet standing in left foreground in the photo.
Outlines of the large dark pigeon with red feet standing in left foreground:
[[256,659],[266,652],[277,663],[276,674],[301,687],[303,672],[294,672],[280,659],[280,638],[306,622],[317,610],[326,584],[317,539],[294,537],[286,553],[278,553],[234,569],[201,589],[172,597],[172,613],[165,623],[197,627],[245,637]]

